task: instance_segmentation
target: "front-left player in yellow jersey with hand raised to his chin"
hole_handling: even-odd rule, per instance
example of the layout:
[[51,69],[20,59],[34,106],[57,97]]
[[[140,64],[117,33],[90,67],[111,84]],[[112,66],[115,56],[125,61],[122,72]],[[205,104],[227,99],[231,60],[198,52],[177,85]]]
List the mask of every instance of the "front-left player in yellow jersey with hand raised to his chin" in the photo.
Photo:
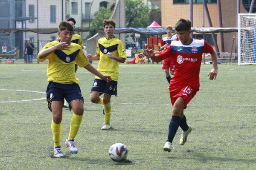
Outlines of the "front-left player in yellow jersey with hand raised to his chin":
[[61,120],[64,99],[70,103],[74,113],[70,122],[70,132],[65,144],[70,153],[78,153],[74,138],[79,130],[83,113],[84,99],[76,78],[74,66],[84,67],[91,73],[106,82],[111,81],[111,76],[97,71],[85,57],[84,51],[76,43],[71,42],[73,26],[67,21],[59,24],[58,36],[60,40],[49,42],[38,53],[38,61],[48,59],[47,77],[47,105],[52,112],[52,135],[54,141],[54,157],[63,157],[61,151]]

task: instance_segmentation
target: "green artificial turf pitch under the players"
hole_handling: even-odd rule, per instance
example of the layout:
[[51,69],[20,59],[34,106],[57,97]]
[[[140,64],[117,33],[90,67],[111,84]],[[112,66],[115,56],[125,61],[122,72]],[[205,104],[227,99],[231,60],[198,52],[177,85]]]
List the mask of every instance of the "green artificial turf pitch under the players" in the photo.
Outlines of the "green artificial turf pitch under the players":
[[[93,66],[97,67],[96,62]],[[64,109],[62,150],[52,158],[51,113],[47,108],[46,64],[0,65],[0,170],[255,170],[256,65],[218,65],[214,81],[202,65],[200,91],[184,111],[192,133],[170,153],[163,151],[171,119],[168,83],[161,64],[120,64],[118,96],[111,98],[113,130],[100,130],[102,105],[90,102],[94,76],[76,75],[84,96],[84,118],[69,154],[64,140],[72,112]],[[128,161],[113,162],[113,143],[128,147]]]

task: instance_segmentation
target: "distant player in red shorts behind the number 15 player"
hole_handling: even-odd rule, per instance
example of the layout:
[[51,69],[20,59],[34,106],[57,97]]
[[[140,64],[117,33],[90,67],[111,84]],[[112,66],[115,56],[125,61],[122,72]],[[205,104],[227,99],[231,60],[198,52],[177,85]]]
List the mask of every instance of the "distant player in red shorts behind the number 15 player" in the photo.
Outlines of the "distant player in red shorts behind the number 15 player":
[[[172,26],[166,26],[166,33],[167,33],[167,37],[163,37],[163,40],[161,41],[161,47],[160,49],[163,51],[166,49],[166,47],[168,45],[171,44],[172,41],[178,40],[176,35],[172,35]],[[171,75],[173,75],[174,73],[174,61],[172,59],[172,57],[166,58],[163,60],[163,65],[162,65],[162,70],[165,71],[166,73],[166,79],[168,81],[168,83],[170,84],[171,81]],[[170,70],[170,74],[169,74],[169,70]],[[169,86],[168,86],[169,88]]]

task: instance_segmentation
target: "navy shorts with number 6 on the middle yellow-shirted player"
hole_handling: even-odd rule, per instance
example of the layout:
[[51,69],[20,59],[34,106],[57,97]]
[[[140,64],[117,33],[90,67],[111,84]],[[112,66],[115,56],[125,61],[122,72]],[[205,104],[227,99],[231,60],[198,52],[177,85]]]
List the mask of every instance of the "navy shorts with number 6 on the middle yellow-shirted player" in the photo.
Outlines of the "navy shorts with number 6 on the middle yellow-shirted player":
[[117,96],[117,81],[106,82],[102,79],[95,79],[91,92],[96,91],[101,94],[116,95]]

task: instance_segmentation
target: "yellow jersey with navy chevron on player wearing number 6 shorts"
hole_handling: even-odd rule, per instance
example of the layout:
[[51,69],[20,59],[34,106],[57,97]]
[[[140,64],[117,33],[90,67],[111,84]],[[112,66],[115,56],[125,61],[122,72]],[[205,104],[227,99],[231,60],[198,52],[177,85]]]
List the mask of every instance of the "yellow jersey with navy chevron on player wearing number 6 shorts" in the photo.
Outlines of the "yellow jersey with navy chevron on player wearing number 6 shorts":
[[[111,78],[115,81],[118,80],[119,76],[119,62],[115,59],[107,57],[107,53],[110,52],[112,55],[122,57],[126,59],[125,48],[122,42],[116,37],[107,40],[106,37],[98,40],[96,54],[99,55],[98,71],[102,74],[111,75]],[[95,77],[100,79],[99,77]]]

